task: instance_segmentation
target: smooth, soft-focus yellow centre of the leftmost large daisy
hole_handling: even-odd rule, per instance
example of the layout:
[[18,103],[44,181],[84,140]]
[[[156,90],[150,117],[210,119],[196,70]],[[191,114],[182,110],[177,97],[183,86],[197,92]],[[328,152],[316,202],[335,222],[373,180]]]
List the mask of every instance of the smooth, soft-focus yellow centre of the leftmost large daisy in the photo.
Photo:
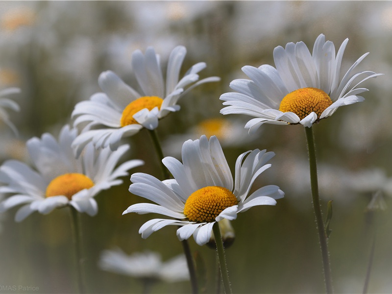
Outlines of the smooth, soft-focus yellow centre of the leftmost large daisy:
[[46,197],[64,195],[71,200],[72,196],[83,189],[94,186],[93,181],[81,173],[65,173],[54,178],[46,189]]

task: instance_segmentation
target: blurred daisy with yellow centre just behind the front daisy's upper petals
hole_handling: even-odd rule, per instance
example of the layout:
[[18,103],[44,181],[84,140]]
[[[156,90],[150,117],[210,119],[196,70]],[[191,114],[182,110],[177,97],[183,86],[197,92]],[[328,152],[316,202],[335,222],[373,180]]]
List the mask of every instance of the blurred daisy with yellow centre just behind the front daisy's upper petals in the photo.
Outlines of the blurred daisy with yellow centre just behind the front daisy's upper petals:
[[169,136],[163,143],[163,150],[165,154],[175,157],[181,154],[181,146],[184,141],[188,139],[196,140],[203,134],[207,138],[216,136],[223,148],[242,146],[256,138],[245,132],[242,121],[222,117],[211,118],[197,123],[185,134]]

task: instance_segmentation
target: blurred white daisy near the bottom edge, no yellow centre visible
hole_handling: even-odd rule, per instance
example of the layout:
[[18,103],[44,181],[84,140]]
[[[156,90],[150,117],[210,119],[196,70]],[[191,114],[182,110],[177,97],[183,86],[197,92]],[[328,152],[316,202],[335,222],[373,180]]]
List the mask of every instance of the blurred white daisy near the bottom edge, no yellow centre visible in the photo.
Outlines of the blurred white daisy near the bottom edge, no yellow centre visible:
[[99,268],[150,281],[179,282],[189,280],[187,261],[183,254],[162,262],[157,252],[135,252],[127,255],[123,250],[104,250],[100,254]]

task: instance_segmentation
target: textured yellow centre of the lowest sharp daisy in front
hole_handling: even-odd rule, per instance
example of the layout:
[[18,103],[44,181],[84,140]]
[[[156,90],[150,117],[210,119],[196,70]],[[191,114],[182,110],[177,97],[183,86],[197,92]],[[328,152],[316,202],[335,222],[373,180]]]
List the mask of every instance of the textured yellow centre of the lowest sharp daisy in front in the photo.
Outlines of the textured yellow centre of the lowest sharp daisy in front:
[[226,188],[204,187],[188,197],[184,215],[189,221],[212,222],[224,209],[237,204],[236,196]]

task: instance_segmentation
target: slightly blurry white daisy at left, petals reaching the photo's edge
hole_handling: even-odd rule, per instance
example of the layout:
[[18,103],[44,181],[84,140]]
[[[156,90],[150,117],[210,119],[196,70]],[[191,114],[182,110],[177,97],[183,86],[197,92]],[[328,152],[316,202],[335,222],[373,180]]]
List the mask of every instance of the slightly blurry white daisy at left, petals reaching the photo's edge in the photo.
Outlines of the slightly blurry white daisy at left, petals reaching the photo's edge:
[[26,146],[35,170],[17,160],[8,160],[0,167],[0,193],[11,193],[0,203],[0,212],[25,204],[15,215],[15,221],[23,221],[34,211],[48,214],[56,207],[73,206],[79,212],[94,216],[98,212],[94,199],[102,190],[120,185],[119,177],[128,170],[143,164],[141,160],[129,160],[115,168],[129,149],[123,145],[117,152],[110,149],[97,151],[92,145],[75,159],[71,143],[76,129],[65,125],[58,142],[49,133],[41,139],[32,138]]

